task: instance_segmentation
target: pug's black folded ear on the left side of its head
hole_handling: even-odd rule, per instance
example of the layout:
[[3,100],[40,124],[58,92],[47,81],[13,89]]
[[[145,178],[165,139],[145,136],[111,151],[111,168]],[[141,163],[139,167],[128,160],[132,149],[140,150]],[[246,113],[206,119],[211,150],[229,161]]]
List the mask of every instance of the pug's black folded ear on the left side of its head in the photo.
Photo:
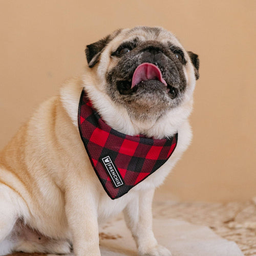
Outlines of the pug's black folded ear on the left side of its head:
[[86,47],[86,58],[89,68],[93,68],[96,65],[99,61],[102,50],[106,45],[108,45],[110,40],[110,35],[108,35]]

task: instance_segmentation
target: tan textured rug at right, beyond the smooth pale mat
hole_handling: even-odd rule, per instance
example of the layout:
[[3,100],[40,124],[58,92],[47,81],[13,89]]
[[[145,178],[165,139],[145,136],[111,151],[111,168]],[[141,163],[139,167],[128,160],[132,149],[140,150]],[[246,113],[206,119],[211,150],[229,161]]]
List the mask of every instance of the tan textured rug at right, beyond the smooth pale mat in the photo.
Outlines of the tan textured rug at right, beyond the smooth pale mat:
[[154,217],[204,225],[237,243],[244,255],[256,256],[256,198],[247,202],[155,202]]

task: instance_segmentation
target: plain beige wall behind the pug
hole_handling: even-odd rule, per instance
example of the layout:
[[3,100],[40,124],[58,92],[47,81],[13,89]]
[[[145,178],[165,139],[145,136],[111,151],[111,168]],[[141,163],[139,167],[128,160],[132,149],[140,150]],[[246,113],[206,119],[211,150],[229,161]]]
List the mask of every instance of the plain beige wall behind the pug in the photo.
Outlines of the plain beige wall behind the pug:
[[84,48],[135,25],[173,31],[198,53],[194,139],[158,191],[182,200],[256,196],[256,1],[0,0],[0,148],[63,80]]

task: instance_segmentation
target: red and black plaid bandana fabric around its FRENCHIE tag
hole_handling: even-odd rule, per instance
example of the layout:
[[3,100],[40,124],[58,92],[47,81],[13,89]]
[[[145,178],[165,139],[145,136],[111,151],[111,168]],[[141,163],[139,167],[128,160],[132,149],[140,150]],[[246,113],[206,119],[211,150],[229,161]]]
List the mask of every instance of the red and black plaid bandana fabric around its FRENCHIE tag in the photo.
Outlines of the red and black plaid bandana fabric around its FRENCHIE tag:
[[[178,140],[178,133],[159,140],[117,132],[92,108],[84,91],[79,102],[78,126],[95,173],[112,199],[123,196],[161,167],[174,152]],[[110,156],[121,175],[123,184],[118,187],[103,166],[102,158],[106,156]]]

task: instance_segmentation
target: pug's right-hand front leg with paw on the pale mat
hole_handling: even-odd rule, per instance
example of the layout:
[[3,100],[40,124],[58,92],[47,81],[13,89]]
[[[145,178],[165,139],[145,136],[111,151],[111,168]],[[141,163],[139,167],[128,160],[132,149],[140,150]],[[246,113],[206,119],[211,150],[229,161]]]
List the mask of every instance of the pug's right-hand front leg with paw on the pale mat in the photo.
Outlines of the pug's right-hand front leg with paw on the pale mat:
[[165,247],[158,245],[152,229],[152,201],[154,191],[141,191],[124,209],[124,218],[138,247],[139,255],[170,256]]

